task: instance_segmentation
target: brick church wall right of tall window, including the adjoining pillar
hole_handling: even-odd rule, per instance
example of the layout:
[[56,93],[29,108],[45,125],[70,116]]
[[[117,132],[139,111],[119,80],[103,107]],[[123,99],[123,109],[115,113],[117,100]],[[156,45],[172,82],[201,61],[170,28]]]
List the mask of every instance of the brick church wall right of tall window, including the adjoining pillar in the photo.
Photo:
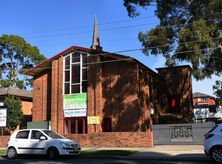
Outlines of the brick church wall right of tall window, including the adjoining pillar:
[[[109,60],[99,57],[89,59],[90,62]],[[153,104],[158,103],[155,96],[157,90],[153,91],[157,78],[140,67],[128,61],[89,65],[88,116],[100,116],[101,121],[103,118],[111,118],[112,132],[148,130],[151,120],[150,102],[147,101],[150,100],[149,97],[153,97]],[[140,70],[144,76],[139,77]],[[149,81],[152,81],[152,86]],[[102,123],[88,125],[88,133],[102,132]]]

